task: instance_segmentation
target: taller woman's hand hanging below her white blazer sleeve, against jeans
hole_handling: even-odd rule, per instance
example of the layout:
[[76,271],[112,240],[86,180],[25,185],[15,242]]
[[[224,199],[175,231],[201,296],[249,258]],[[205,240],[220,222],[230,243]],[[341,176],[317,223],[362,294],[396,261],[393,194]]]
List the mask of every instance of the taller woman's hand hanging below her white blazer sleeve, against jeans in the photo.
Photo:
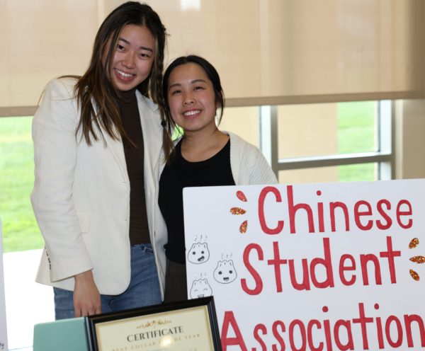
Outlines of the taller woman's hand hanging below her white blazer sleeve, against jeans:
[[75,275],[74,311],[76,318],[102,313],[101,294],[91,270]]

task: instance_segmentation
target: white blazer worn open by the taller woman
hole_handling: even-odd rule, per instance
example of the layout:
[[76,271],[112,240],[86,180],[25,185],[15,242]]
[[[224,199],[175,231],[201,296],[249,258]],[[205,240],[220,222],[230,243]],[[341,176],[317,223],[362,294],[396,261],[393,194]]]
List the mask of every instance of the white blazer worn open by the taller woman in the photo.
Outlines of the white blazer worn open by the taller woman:
[[[36,282],[74,290],[74,275],[93,270],[101,294],[130,284],[130,181],[122,142],[103,132],[88,146],[75,135],[80,118],[72,98],[75,79],[47,85],[33,119],[35,183],[31,193],[45,249]],[[145,193],[149,234],[162,296],[167,241],[158,207],[162,126],[157,105],[136,91],[145,142]],[[100,135],[98,135],[100,137]]]

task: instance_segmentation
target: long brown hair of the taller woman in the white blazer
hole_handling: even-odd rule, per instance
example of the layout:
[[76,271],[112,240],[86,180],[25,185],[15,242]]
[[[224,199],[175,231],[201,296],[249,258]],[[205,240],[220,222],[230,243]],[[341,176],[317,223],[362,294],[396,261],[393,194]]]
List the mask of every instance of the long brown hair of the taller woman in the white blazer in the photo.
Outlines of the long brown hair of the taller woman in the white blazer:
[[[161,115],[164,115],[162,71],[164,70],[166,29],[158,14],[150,6],[128,1],[115,8],[103,21],[94,40],[89,68],[83,76],[74,76],[78,79],[74,93],[81,111],[81,119],[76,134],[81,130],[82,137],[89,145],[91,145],[91,137],[96,142],[99,139],[98,133],[103,137],[101,127],[112,139],[122,139],[124,146],[132,144],[121,120],[118,105],[121,97],[120,91],[115,86],[113,79],[110,81],[106,75],[106,70],[108,70],[109,76],[113,76],[113,56],[118,38],[120,38],[120,33],[124,27],[130,24],[144,26],[154,37],[155,53],[152,69],[147,79],[137,86],[137,90],[143,96],[150,97],[154,103],[157,103]],[[103,50],[105,50],[106,43],[111,36],[111,45],[106,58],[105,69],[103,69]]]

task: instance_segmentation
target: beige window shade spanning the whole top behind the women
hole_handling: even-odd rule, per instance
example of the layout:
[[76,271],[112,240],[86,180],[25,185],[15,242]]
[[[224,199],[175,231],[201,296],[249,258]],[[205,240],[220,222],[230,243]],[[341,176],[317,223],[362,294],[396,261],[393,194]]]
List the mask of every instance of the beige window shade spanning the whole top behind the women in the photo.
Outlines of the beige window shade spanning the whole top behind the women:
[[[123,2],[1,0],[0,108],[34,106],[50,79],[82,74],[99,23]],[[424,97],[423,0],[147,3],[169,59],[209,59],[229,105]]]

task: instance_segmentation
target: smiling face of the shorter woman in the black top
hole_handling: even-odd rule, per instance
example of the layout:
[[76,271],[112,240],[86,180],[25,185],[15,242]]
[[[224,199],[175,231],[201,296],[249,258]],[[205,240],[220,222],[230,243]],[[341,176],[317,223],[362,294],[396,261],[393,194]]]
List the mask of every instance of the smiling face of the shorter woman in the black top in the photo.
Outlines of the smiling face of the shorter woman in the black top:
[[215,130],[215,92],[198,64],[177,66],[169,76],[168,101],[171,116],[187,132]]

